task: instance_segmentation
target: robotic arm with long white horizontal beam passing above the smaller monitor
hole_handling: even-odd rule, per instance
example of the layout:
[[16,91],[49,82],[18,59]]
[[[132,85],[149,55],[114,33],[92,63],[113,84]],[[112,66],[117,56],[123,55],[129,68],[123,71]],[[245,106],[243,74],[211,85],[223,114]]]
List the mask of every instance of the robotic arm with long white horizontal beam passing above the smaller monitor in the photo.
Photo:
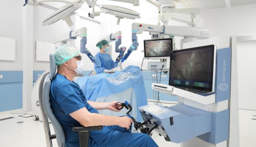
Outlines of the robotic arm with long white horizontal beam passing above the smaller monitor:
[[155,32],[163,35],[173,35],[178,37],[184,37],[181,40],[181,47],[183,43],[190,42],[191,40],[205,39],[209,38],[208,29],[206,28],[198,28],[198,27],[185,27],[185,26],[173,26],[173,25],[149,25],[149,24],[140,24],[133,23],[132,24],[132,45],[128,49],[124,58],[122,58],[122,62],[125,61],[132,51],[137,50],[138,48],[138,38],[137,34],[142,34],[143,31]]

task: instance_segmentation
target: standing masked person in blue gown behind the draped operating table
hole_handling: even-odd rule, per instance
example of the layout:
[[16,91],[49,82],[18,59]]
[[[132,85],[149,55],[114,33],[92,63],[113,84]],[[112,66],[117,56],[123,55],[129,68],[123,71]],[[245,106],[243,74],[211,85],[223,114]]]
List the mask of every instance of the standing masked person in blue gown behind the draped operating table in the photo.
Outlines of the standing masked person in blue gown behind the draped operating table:
[[[94,69],[97,74],[99,73],[112,73],[112,68],[118,66],[120,59],[112,60],[111,56],[106,53],[109,51],[109,42],[107,40],[99,41],[96,46],[100,49],[99,52],[95,55]],[[99,66],[99,67],[98,67]]]

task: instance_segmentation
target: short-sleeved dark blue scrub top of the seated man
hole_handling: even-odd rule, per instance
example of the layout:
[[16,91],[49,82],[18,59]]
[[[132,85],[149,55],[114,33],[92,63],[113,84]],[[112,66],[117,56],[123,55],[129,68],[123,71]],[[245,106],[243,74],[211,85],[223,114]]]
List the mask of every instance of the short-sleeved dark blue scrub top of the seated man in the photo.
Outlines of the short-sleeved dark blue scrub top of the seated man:
[[[65,147],[79,147],[79,136],[77,132],[72,131],[72,126],[80,123],[69,114],[83,107],[86,107],[90,113],[99,113],[98,110],[87,103],[77,83],[71,82],[59,73],[53,78],[50,90],[51,109],[64,130]],[[99,131],[90,131],[89,141],[93,139],[95,142],[101,142],[109,136],[109,132],[106,127]]]

